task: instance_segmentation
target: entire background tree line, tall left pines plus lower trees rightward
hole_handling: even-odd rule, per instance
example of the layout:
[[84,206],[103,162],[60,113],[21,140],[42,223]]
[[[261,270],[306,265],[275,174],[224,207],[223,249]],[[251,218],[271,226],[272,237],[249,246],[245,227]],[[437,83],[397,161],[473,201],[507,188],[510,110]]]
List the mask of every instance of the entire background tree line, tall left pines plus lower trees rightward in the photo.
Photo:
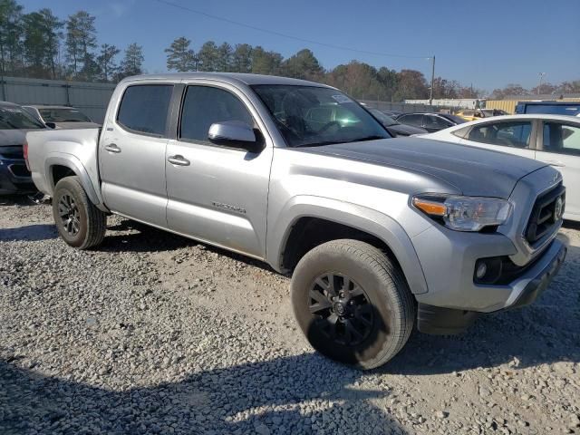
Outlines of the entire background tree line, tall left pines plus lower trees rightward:
[[[142,47],[131,43],[121,48],[98,43],[95,17],[78,11],[60,19],[51,9],[24,14],[16,0],[0,0],[0,73],[44,79],[86,82],[118,82],[129,75],[145,73]],[[427,99],[430,82],[412,69],[395,71],[376,68],[356,60],[325,70],[308,49],[284,58],[281,53],[247,43],[202,43],[194,50],[185,36],[176,38],[168,48],[169,71],[206,71],[284,75],[324,82],[361,100],[401,102]],[[492,97],[536,93],[517,84],[497,89]],[[580,81],[559,85],[543,83],[541,93],[580,92]],[[486,92],[463,86],[457,81],[436,77],[433,97],[438,99],[481,98]]]

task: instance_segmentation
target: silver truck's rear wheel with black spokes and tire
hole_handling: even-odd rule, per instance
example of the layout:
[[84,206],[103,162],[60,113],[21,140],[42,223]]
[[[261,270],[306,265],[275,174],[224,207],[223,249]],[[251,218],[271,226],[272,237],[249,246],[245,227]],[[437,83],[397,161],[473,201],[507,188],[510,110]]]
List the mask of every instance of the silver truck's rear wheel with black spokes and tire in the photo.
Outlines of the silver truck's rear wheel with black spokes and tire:
[[105,237],[107,216],[92,204],[78,177],[56,183],[53,217],[60,236],[71,247],[96,247]]

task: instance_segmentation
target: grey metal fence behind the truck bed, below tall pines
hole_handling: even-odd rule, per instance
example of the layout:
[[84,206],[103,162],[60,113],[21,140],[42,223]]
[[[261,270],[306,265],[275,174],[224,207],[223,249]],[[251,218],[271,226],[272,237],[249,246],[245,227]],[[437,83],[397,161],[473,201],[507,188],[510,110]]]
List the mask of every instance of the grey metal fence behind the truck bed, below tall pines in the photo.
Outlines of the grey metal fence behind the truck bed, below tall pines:
[[102,123],[115,85],[60,80],[5,77],[0,81],[0,100],[16,104],[73,106],[92,121]]

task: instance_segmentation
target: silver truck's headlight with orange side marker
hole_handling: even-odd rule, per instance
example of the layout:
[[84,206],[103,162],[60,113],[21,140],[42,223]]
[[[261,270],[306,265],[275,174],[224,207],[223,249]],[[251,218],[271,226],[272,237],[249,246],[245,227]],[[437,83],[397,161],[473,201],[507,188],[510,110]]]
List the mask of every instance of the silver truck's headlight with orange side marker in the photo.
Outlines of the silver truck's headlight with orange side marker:
[[414,197],[413,206],[457,231],[479,231],[503,224],[511,213],[506,199],[478,197]]

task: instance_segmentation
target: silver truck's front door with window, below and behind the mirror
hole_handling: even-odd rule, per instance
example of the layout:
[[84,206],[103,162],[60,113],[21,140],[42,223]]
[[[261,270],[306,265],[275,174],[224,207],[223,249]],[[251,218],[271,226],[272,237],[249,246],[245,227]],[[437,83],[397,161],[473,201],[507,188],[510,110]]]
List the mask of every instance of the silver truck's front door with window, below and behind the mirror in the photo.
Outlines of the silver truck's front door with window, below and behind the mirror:
[[[177,138],[166,156],[169,228],[237,252],[266,256],[267,194],[272,144],[247,97],[226,84],[186,87]],[[242,121],[265,142],[261,152],[208,140],[211,124]],[[267,135],[266,135],[267,136]]]

